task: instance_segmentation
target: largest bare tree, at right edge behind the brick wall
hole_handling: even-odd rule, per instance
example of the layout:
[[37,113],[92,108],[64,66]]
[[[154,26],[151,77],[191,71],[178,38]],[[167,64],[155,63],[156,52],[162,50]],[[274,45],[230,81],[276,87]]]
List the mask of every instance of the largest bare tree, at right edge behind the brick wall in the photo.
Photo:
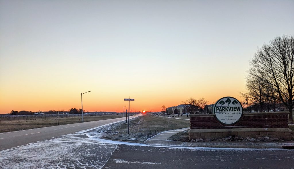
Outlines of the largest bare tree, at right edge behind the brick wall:
[[293,123],[294,37],[278,36],[258,48],[250,65],[250,76],[264,80],[278,93],[289,109],[289,122]]

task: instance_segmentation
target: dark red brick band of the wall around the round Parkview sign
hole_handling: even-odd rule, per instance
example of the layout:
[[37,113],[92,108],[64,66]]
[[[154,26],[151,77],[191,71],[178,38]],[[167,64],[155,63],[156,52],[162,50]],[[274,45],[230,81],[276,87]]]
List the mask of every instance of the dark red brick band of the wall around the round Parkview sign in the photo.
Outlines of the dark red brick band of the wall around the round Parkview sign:
[[235,124],[222,124],[214,114],[191,114],[190,129],[289,128],[288,113],[243,113]]

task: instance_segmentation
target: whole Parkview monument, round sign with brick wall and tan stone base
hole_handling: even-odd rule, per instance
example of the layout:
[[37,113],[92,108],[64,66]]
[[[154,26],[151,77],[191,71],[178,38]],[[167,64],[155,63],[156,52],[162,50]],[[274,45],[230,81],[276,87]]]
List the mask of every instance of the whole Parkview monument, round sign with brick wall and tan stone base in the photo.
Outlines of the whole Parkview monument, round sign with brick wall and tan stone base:
[[223,97],[214,104],[213,114],[190,114],[189,139],[269,136],[290,140],[288,114],[243,113],[237,99]]

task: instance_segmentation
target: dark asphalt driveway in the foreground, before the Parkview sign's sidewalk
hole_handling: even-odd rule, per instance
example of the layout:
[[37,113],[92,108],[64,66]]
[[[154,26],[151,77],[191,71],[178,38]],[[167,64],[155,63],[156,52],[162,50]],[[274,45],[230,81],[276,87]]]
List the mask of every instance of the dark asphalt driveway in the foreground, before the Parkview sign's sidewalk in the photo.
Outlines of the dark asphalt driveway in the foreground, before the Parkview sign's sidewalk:
[[294,151],[246,149],[183,149],[119,144],[103,169],[111,168],[294,168]]

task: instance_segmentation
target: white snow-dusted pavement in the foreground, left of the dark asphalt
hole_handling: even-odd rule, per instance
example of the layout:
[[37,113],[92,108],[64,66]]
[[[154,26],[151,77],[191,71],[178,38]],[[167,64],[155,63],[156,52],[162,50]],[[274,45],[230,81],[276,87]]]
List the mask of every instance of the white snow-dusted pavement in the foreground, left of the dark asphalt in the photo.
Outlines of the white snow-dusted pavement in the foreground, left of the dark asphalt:
[[1,168],[102,168],[116,144],[69,134],[1,151]]

